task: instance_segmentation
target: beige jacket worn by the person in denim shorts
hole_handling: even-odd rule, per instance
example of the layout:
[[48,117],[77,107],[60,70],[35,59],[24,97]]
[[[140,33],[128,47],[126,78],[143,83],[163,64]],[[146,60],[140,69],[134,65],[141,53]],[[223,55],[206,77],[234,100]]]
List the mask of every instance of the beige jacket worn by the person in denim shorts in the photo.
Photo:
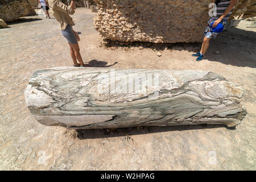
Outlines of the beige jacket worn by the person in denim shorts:
[[60,29],[65,30],[68,24],[75,25],[69,15],[73,15],[75,11],[67,5],[64,5],[60,0],[48,0],[49,7],[53,11],[53,16],[60,23]]

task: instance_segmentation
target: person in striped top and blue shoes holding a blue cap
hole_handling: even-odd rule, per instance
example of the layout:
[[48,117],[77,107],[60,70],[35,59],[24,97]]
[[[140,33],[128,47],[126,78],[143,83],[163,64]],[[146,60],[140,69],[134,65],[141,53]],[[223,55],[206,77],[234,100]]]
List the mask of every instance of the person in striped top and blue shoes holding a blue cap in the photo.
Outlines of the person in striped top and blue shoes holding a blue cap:
[[[210,39],[215,39],[217,34],[220,33],[232,14],[234,6],[236,6],[237,0],[213,0],[216,7],[214,7],[213,15],[207,22],[207,27],[204,31],[204,40],[201,47],[201,51],[193,54],[192,56],[197,57],[197,61],[204,59],[205,52],[207,51]],[[220,26],[218,26],[220,24]],[[217,28],[216,28],[217,27]],[[222,27],[222,28],[218,28]],[[218,30],[220,29],[220,30]]]

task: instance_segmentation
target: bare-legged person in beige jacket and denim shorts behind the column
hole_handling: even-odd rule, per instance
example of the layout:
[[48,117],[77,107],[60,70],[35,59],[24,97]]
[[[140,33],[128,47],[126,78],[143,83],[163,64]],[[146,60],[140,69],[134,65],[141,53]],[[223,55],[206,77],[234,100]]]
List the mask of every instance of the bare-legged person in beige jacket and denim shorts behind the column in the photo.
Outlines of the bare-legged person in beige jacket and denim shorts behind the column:
[[[80,48],[78,42],[80,41],[77,32],[75,32],[72,26],[75,25],[71,16],[75,13],[75,0],[71,0],[69,6],[62,3],[60,0],[48,0],[49,7],[53,11],[53,16],[60,23],[60,29],[63,36],[67,39],[70,55],[72,57],[75,67],[85,67],[82,56],[80,55]],[[79,61],[80,64],[77,63]]]

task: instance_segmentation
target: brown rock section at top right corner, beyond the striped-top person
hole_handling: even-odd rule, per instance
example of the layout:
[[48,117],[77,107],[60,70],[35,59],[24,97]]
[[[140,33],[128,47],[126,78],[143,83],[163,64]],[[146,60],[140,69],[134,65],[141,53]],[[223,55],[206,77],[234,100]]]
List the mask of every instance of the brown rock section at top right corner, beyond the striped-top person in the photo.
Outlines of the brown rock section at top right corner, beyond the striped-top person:
[[240,0],[237,3],[236,9],[233,11],[233,16],[242,15],[243,18],[251,18],[256,16],[256,1],[255,0]]

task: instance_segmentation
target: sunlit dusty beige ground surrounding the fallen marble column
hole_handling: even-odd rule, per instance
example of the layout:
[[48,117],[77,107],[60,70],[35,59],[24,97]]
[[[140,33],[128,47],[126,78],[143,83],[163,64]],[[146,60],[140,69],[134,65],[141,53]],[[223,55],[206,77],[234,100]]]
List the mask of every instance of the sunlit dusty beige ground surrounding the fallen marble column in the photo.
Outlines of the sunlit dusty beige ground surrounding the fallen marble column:
[[242,103],[248,114],[236,130],[200,125],[75,131],[40,125],[24,103],[28,79],[36,69],[71,66],[72,60],[56,20],[28,16],[0,30],[1,170],[256,169],[256,28],[245,28],[249,22],[243,21],[222,32],[198,63],[191,56],[198,43],[106,48],[94,30],[94,15],[81,8],[73,16],[82,33],[81,54],[91,66],[213,71],[246,89]]

